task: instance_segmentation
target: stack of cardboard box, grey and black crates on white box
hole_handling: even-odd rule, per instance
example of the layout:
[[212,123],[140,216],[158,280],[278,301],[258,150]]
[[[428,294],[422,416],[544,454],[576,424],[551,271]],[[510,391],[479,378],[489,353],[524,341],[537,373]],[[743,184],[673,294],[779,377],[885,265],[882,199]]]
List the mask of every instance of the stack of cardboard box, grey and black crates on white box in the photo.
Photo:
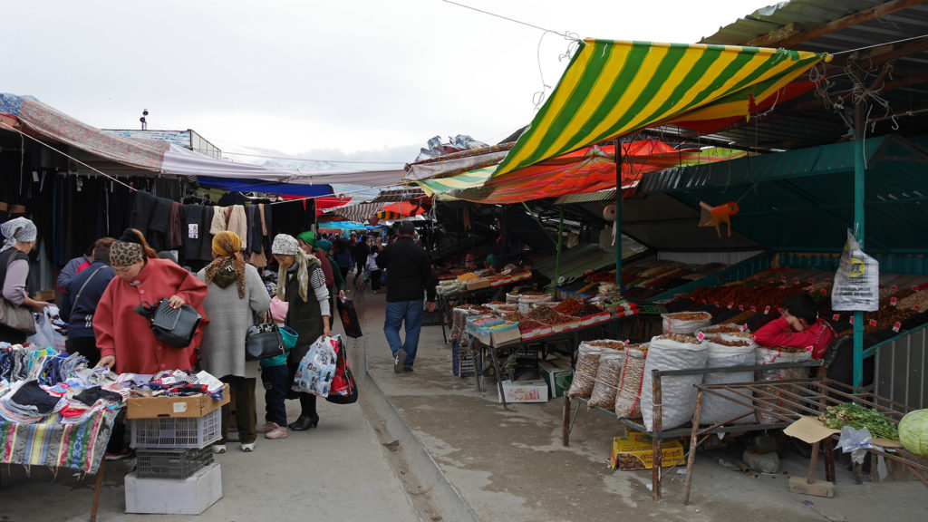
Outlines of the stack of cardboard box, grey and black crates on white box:
[[222,405],[209,395],[130,398],[126,418],[135,472],[125,477],[127,513],[200,515],[222,497],[213,442],[222,437]]

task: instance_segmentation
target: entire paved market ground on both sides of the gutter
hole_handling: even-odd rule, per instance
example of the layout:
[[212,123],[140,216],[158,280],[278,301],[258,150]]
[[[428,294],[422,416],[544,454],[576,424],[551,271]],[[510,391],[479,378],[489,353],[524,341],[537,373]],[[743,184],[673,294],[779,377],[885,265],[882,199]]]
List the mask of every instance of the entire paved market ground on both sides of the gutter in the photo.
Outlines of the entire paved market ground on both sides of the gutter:
[[[230,444],[228,453],[216,457],[223,467],[224,497],[198,519],[472,520],[469,510],[448,507],[448,499],[458,494],[472,514],[488,522],[924,519],[928,491],[921,483],[856,485],[841,466],[835,498],[789,493],[788,477],[804,476],[807,469],[808,461],[795,455],[783,463],[785,475],[758,477],[718,463],[730,463],[739,453],[700,455],[690,505],[680,502],[682,476],[676,472],[665,479],[664,500],[653,502],[650,471],[609,469],[612,437],[622,434],[611,418],[582,409],[571,446],[564,448],[562,399],[504,411],[489,386],[491,391],[478,392],[472,378],[452,375],[451,350],[438,327],[423,329],[416,372],[394,374],[381,332],[383,294],[368,291],[356,301],[366,336],[352,342],[354,368],[363,373],[359,356],[367,350],[376,381],[361,387],[367,400],[350,406],[320,401],[318,429],[291,433],[285,440],[259,438],[251,454]],[[378,388],[384,400],[378,399]],[[399,416],[392,420],[379,410],[383,404]],[[295,417],[296,404],[289,407]],[[399,435],[406,426],[411,435]],[[417,457],[419,451],[424,459]],[[130,465],[108,467],[99,520],[153,519],[124,514],[122,477]],[[432,473],[429,466],[437,471]],[[79,480],[66,471],[54,476],[44,468],[32,468],[27,476],[19,466],[0,471],[0,521],[88,518],[93,477]],[[439,488],[443,476],[451,493]],[[190,519],[155,516],[168,522]]]

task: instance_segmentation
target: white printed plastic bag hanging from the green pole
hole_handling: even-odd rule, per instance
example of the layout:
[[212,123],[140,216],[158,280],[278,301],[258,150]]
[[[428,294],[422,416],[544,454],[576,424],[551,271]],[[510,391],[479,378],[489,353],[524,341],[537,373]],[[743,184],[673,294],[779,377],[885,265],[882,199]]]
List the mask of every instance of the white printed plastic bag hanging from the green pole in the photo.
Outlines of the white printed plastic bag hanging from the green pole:
[[834,274],[831,308],[835,311],[876,311],[880,307],[880,263],[864,254],[850,229]]

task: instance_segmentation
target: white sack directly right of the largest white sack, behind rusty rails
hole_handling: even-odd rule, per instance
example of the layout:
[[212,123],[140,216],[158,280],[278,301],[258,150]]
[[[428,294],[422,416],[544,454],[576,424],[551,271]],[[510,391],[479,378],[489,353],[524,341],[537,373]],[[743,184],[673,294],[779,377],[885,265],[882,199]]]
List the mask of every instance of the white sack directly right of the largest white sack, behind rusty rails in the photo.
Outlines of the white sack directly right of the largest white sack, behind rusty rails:
[[[709,346],[708,368],[729,368],[731,366],[752,366],[754,365],[754,344],[749,346],[726,346],[716,343],[705,343]],[[712,372],[706,373],[702,378],[704,385],[728,385],[731,383],[753,383],[754,371],[747,372]],[[736,398],[741,402],[751,402],[750,398],[742,398],[733,393],[722,392],[726,397]],[[748,394],[750,395],[750,393]],[[720,397],[711,393],[702,394],[702,413],[700,413],[700,424],[715,424],[728,421],[743,413],[751,413],[741,417],[732,424],[753,424],[754,408],[744,406],[737,402],[732,402],[725,397]]]

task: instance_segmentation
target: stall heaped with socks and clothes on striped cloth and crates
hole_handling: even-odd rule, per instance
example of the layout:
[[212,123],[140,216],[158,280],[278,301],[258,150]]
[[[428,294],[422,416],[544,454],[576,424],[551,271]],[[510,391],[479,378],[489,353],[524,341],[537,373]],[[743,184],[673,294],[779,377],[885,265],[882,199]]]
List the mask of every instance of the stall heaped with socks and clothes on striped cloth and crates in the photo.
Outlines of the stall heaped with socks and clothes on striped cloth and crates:
[[[110,434],[115,424],[122,423],[117,416],[126,410],[128,403],[132,443],[139,450],[138,470],[133,476],[179,477],[176,475],[179,467],[187,474],[180,478],[189,476],[213,462],[209,445],[221,435],[217,408],[228,401],[227,386],[205,372],[162,373],[116,374],[88,368],[87,360],[80,354],[69,355],[51,347],[39,349],[28,344],[0,346],[0,463],[21,464],[27,469],[40,465],[71,469],[82,476],[96,475],[91,510],[91,520],[96,520]],[[203,414],[213,411],[211,423],[204,423],[207,417],[200,414],[200,409],[187,407],[200,404],[207,406]],[[151,421],[146,420],[149,417]],[[186,425],[181,425],[185,422]],[[182,458],[186,450],[177,453],[176,448],[198,448],[208,459],[187,462]],[[148,460],[144,458],[146,454]],[[165,463],[166,456],[171,458],[172,465]],[[148,505],[157,501],[159,509],[178,501],[176,497],[158,500],[146,495]],[[127,509],[135,508],[134,501],[135,496],[130,498],[127,493]]]

